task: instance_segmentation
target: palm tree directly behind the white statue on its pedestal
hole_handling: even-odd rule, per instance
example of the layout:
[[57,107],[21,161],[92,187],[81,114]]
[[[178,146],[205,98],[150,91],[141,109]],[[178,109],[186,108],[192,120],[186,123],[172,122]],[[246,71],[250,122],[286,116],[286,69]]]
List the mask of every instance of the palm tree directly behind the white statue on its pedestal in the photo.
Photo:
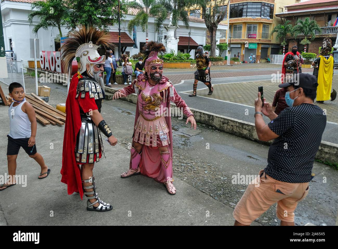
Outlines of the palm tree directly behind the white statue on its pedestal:
[[[178,21],[181,20],[184,26],[189,28],[189,16],[186,11],[186,7],[189,6],[189,0],[160,0],[161,3],[168,11],[168,13],[172,14],[171,23],[173,26],[178,27]],[[176,39],[176,29],[174,33]]]

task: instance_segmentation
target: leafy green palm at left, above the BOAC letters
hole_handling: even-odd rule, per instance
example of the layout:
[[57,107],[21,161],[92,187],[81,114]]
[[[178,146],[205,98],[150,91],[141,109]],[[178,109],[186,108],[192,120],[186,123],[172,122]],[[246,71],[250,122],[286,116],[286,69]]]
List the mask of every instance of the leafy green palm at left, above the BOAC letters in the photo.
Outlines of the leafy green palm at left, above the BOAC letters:
[[34,26],[33,33],[38,34],[40,28],[47,30],[48,27],[57,27],[62,37],[61,26],[66,24],[66,19],[69,17],[68,8],[62,0],[33,2],[31,10],[32,12],[28,15],[29,23],[33,23],[35,16],[39,18],[39,23]]

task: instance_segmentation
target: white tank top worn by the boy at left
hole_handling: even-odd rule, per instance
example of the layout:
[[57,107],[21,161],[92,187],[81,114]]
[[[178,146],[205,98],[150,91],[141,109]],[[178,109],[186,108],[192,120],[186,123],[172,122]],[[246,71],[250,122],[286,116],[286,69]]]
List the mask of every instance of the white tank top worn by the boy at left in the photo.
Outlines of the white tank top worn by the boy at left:
[[22,105],[26,102],[26,100],[22,101],[19,105],[14,106],[13,102],[8,108],[8,116],[9,116],[9,137],[17,139],[17,138],[30,138],[31,135],[31,127],[30,121],[27,113],[24,113],[21,110]]

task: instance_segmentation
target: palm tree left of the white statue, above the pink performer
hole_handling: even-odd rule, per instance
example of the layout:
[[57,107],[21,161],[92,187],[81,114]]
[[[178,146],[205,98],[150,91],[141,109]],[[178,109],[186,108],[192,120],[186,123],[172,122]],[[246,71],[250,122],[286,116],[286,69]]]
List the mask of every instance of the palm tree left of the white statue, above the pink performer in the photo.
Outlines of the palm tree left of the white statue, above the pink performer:
[[148,42],[148,18],[155,17],[155,28],[158,30],[168,16],[167,9],[156,0],[140,0],[140,2],[128,3],[128,7],[138,9],[136,16],[128,23],[128,32],[131,35],[134,25],[141,26],[142,31],[146,33],[146,42]]

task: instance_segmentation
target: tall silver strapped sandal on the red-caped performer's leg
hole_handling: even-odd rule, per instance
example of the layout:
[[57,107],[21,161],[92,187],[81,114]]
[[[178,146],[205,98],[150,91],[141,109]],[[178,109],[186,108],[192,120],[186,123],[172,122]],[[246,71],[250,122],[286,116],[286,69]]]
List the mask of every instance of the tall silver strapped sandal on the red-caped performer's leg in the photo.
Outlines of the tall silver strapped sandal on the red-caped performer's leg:
[[[113,206],[110,205],[109,203],[105,203],[104,201],[101,201],[100,198],[98,198],[97,193],[96,193],[96,186],[95,186],[95,178],[94,175],[91,179],[87,179],[87,180],[82,180],[82,186],[83,183],[93,183],[90,186],[83,186],[83,190],[86,196],[87,196],[87,210],[88,211],[97,211],[97,212],[106,212],[106,211],[110,211],[113,210]],[[91,192],[86,192],[88,189],[93,189],[93,191]],[[90,199],[96,199],[95,202],[91,203],[89,200]],[[94,205],[96,203],[99,203],[99,205],[97,207],[94,207]]]

